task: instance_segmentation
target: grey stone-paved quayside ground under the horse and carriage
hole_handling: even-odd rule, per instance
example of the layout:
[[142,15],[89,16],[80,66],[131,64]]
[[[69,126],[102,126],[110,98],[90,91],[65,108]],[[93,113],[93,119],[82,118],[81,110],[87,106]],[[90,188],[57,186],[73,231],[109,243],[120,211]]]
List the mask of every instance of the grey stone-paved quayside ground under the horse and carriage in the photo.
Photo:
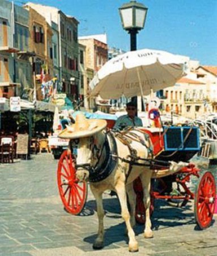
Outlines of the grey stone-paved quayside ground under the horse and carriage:
[[[117,198],[104,196],[105,247],[93,251],[97,232],[93,196],[89,192],[83,216],[65,212],[56,168],[57,160],[50,154],[0,165],[0,255],[130,254]],[[181,209],[159,202],[152,224],[155,237],[150,240],[143,238],[143,226],[136,226],[139,252],[135,255],[217,255],[217,224],[197,230],[190,204]]]

